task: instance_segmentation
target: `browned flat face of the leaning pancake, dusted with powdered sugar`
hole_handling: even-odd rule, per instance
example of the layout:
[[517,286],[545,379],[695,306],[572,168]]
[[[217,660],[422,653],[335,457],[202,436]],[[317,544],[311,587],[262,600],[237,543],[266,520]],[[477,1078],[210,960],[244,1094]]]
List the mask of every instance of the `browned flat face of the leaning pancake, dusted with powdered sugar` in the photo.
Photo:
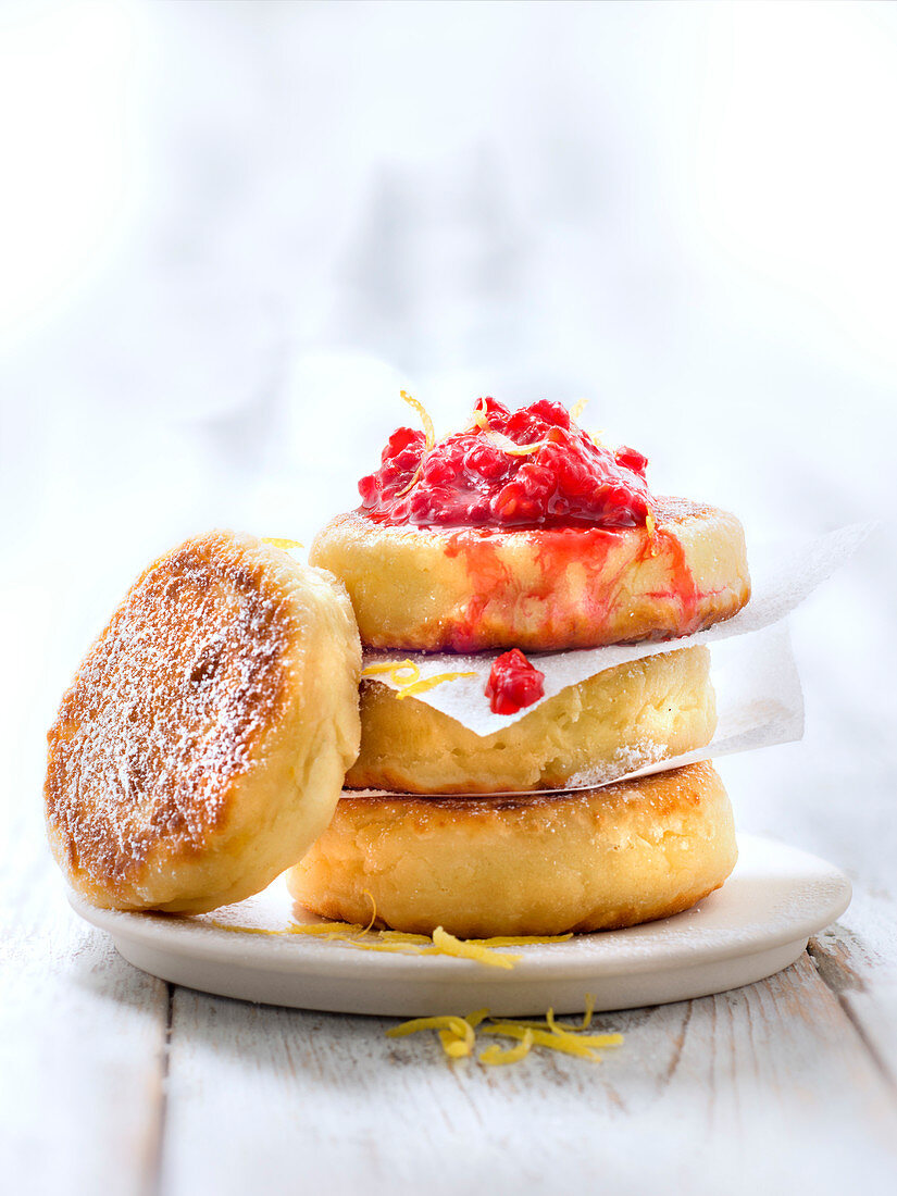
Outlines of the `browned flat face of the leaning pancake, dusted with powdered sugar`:
[[84,660],[48,734],[47,817],[72,872],[133,883],[201,849],[283,701],[289,623],[257,542],[230,532],[152,565]]

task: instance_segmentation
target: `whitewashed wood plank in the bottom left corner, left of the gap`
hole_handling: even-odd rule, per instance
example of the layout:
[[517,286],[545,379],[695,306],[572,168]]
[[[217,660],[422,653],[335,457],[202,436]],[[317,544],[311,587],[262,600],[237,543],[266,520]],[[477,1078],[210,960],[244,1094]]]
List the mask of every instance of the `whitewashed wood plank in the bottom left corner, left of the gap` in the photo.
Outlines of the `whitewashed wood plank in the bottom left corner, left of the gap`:
[[39,824],[0,877],[0,1157],[10,1191],[136,1196],[154,1173],[167,988],[62,896]]

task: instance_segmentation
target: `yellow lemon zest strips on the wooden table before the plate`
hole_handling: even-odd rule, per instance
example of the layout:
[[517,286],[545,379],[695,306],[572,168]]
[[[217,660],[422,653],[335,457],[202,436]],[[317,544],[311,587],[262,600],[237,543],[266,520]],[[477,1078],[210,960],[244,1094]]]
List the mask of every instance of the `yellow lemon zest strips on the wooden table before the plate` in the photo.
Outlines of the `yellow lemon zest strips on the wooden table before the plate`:
[[[557,1021],[554,1011],[549,1009],[543,1020],[524,1021],[519,1018],[492,1018],[488,1009],[477,1009],[460,1017],[453,1013],[433,1018],[411,1018],[386,1031],[388,1038],[405,1038],[421,1030],[435,1030],[439,1042],[448,1058],[468,1058],[474,1056],[489,1067],[505,1063],[517,1063],[525,1058],[533,1046],[556,1050],[563,1055],[575,1055],[579,1058],[598,1063],[602,1056],[599,1049],[618,1046],[622,1035],[586,1033],[592,1024],[594,997],[586,996],[586,1008],[580,1023]],[[490,1043],[480,1055],[476,1055],[477,1035],[511,1038],[514,1046],[504,1048]]]

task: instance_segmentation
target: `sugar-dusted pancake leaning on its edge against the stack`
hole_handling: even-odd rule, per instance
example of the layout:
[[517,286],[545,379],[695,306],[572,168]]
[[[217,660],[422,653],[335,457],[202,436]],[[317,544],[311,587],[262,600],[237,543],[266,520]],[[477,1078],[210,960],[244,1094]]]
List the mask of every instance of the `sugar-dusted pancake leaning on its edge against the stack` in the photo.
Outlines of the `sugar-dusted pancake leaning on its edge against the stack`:
[[332,814],[360,667],[346,594],[279,548],[215,532],[151,565],[48,736],[48,831],[72,886],[184,913],[263,889]]

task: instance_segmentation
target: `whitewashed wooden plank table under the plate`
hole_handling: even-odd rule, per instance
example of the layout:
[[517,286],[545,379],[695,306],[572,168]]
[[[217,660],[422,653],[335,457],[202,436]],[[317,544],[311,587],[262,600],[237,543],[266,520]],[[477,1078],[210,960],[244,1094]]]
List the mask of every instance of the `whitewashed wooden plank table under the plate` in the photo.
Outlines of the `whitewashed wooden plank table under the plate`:
[[[795,618],[806,739],[721,764],[744,829],[846,867],[850,910],[763,983],[603,1015],[626,1042],[600,1064],[450,1063],[429,1036],[386,1039],[386,1020],[255,1007],[135,971],[69,911],[43,844],[35,712],[47,721],[56,669],[39,694],[8,695],[4,1190],[897,1190],[893,740],[874,694],[855,704],[848,648],[813,649],[880,549]],[[41,617],[41,591],[8,600]],[[29,636],[11,651],[26,661]]]

